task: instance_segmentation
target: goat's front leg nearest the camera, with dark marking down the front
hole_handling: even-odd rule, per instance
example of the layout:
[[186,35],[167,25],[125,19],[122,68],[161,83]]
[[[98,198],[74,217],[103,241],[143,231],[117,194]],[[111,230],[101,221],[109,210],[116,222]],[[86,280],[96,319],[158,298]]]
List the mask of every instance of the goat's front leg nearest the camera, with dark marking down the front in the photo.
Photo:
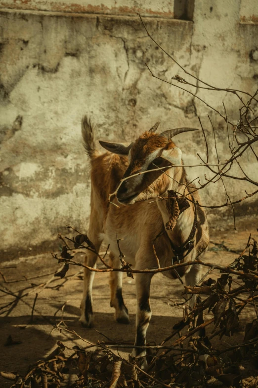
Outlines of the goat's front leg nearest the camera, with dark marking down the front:
[[[134,346],[144,346],[146,344],[146,332],[151,319],[150,307],[150,284],[152,274],[136,274],[136,296],[137,296],[137,313],[136,313],[136,337]],[[145,356],[145,349],[133,349],[132,355]],[[147,366],[146,361],[142,368]]]

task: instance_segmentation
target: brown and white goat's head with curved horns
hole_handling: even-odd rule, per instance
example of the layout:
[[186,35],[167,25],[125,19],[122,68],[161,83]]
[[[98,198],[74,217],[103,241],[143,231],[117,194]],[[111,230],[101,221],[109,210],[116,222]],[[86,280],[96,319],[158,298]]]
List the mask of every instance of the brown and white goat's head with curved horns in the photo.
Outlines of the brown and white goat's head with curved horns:
[[[182,152],[171,139],[179,133],[196,130],[194,128],[175,128],[156,134],[158,125],[159,122],[129,146],[122,143],[99,142],[106,150],[129,157],[129,166],[123,178],[133,176],[124,180],[117,192],[118,201],[124,205],[156,198],[169,189],[173,170],[169,172],[170,176],[165,171],[173,168],[170,166],[182,164]],[[163,168],[143,173],[157,167]]]

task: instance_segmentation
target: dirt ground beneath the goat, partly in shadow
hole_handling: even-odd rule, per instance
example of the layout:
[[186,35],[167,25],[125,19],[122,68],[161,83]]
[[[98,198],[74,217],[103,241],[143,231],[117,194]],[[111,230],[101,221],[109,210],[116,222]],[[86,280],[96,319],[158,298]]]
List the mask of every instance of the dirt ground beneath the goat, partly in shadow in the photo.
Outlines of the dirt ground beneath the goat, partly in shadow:
[[[217,230],[210,228],[211,244],[205,261],[223,266],[231,263],[246,246],[250,233],[258,238],[258,222],[240,222],[239,229],[231,227]],[[224,244],[224,246],[218,245]],[[233,250],[235,252],[232,252]],[[83,261],[84,254],[78,253],[76,260]],[[100,263],[101,264],[101,263]],[[129,309],[130,324],[121,325],[114,320],[114,311],[109,306],[108,274],[96,274],[93,284],[94,328],[82,328],[79,323],[80,301],[82,297],[82,269],[71,266],[64,279],[53,277],[60,265],[50,254],[19,258],[1,263],[0,273],[0,370],[16,371],[24,374],[29,365],[43,359],[56,347],[56,341],[65,345],[86,346],[73,333],[54,329],[61,321],[62,327],[75,331],[90,342],[107,339],[132,344],[135,325],[134,280],[124,275],[123,295]],[[206,270],[207,271],[207,270]],[[205,269],[204,269],[205,273]],[[214,271],[213,277],[219,276]],[[162,274],[155,275],[151,284],[152,319],[147,333],[147,342],[159,344],[172,332],[172,326],[182,319],[183,286],[178,280],[170,280]],[[32,307],[36,300],[33,318]],[[12,295],[17,296],[16,298]],[[28,294],[28,295],[26,295]],[[9,306],[7,303],[15,302]],[[242,324],[251,321],[248,307],[243,311]],[[210,318],[213,315],[211,314]],[[206,316],[205,318],[209,318]],[[209,330],[212,330],[209,329]],[[98,332],[97,332],[98,331]],[[101,333],[99,333],[101,332]],[[6,345],[8,336],[18,343]],[[238,333],[238,336],[244,332]],[[240,339],[240,337],[239,337]],[[236,340],[236,339],[234,339]],[[223,341],[223,338],[222,338]],[[226,338],[225,346],[233,344],[233,338]],[[120,354],[127,357],[129,350]],[[75,371],[76,374],[76,366]],[[0,378],[0,387],[10,387],[10,382]]]

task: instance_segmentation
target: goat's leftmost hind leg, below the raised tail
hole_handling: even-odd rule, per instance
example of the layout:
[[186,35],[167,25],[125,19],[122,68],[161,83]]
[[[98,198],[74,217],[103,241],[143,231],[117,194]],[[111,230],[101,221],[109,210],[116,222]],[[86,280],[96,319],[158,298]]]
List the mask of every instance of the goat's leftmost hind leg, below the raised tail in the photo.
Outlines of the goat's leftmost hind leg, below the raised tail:
[[[95,248],[98,252],[101,242],[94,241]],[[97,255],[93,252],[88,252],[85,256],[84,264],[91,268],[96,268]],[[81,318],[80,322],[86,328],[91,328],[93,324],[93,312],[92,312],[92,284],[94,280],[95,272],[84,269],[84,295],[81,302]]]

